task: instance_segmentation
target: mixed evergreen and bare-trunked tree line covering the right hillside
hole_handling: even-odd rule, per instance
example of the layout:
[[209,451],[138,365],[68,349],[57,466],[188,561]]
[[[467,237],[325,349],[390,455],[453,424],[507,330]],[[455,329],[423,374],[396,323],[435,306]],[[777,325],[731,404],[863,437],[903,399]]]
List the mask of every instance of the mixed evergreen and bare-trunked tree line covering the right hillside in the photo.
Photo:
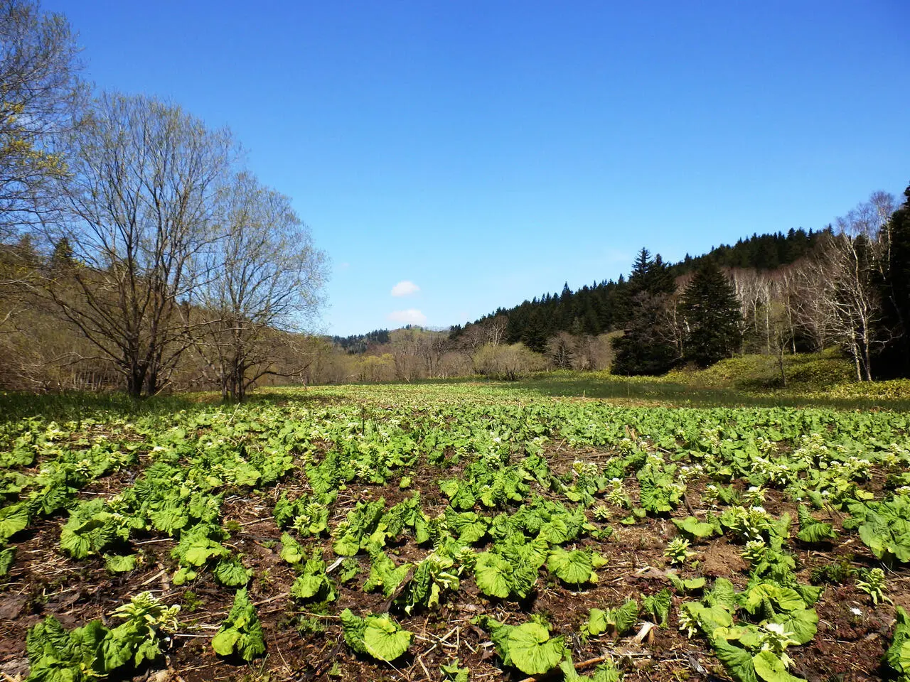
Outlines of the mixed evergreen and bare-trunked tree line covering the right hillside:
[[[612,372],[660,375],[737,353],[839,346],[858,380],[910,376],[910,187],[875,192],[820,231],[790,230],[667,264],[647,248],[628,278],[498,309],[451,337],[500,337],[577,366],[611,336]],[[583,363],[581,363],[583,365]]]

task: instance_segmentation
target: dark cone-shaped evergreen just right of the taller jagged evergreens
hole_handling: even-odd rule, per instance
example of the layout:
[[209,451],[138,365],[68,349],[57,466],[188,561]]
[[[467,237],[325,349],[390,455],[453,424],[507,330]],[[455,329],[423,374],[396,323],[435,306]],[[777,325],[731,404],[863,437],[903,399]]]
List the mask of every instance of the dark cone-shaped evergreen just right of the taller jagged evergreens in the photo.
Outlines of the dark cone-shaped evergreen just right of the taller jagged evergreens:
[[682,314],[689,326],[685,359],[709,366],[733,355],[742,340],[742,311],[733,286],[712,261],[706,261],[686,287]]

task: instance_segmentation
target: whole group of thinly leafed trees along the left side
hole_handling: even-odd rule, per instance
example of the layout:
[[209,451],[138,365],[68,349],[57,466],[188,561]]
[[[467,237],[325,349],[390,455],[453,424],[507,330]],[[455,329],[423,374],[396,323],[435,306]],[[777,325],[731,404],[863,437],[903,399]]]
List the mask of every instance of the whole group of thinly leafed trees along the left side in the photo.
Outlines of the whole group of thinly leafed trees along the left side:
[[147,396],[194,356],[242,398],[293,354],[281,346],[319,308],[325,256],[229,130],[94,93],[77,57],[66,17],[0,5],[0,344],[25,356],[5,380],[44,380],[35,358]]

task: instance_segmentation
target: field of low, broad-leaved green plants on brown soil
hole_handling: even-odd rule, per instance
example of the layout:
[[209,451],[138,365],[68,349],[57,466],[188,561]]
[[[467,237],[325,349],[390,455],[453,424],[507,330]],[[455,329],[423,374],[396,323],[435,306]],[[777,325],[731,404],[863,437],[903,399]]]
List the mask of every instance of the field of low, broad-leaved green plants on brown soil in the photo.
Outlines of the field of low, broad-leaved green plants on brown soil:
[[338,386],[0,417],[0,678],[910,679],[910,414]]

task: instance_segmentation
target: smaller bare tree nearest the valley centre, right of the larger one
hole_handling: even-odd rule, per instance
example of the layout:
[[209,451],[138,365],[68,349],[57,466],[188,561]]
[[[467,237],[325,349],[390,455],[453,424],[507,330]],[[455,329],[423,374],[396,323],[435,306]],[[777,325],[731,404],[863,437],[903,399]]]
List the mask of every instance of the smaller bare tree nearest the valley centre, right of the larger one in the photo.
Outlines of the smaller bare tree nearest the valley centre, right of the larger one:
[[[221,206],[218,238],[197,258],[211,274],[193,295],[206,317],[197,347],[215,367],[222,395],[242,400],[259,378],[278,374],[278,346],[319,310],[325,256],[288,197],[254,176],[239,174]],[[301,366],[282,376],[304,374],[310,355],[300,353]]]

